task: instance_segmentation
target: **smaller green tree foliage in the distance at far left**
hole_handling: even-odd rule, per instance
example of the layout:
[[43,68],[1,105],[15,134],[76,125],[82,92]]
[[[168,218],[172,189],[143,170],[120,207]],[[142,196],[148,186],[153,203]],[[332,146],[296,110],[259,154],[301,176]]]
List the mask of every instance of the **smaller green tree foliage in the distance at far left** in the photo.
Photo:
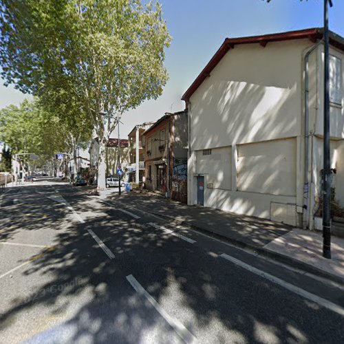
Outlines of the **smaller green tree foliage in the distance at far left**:
[[24,100],[19,107],[10,105],[1,109],[0,139],[10,145],[12,153],[36,153],[40,156],[40,164],[61,151],[76,158],[78,145],[84,147],[88,144],[92,127],[82,121],[81,115],[79,118],[75,116],[72,123],[65,120],[59,111],[63,109],[57,104],[50,109],[38,99],[32,102]]

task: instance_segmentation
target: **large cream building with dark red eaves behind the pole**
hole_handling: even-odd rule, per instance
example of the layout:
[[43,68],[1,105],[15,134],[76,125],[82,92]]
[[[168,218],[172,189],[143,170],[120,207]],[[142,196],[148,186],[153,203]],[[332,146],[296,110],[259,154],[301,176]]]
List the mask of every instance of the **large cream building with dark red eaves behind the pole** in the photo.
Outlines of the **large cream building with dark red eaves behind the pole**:
[[[219,47],[182,97],[188,204],[313,228],[323,166],[322,36],[309,29]],[[331,33],[330,45],[332,185],[344,206],[344,39]]]

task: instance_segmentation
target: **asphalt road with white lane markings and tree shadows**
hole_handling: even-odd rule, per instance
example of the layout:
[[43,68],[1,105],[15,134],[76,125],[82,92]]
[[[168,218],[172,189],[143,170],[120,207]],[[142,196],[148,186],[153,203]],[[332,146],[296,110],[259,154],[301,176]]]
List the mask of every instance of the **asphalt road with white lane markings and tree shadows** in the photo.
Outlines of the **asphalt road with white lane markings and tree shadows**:
[[344,290],[63,183],[0,196],[0,343],[343,343]]

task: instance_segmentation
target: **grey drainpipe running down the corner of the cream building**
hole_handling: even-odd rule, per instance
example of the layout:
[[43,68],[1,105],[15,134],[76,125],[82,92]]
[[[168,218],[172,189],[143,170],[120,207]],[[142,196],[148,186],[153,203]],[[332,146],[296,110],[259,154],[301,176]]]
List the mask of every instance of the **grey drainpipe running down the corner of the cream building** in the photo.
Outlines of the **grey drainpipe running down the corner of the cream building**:
[[323,42],[323,40],[319,41],[315,45],[313,45],[310,50],[305,54],[305,182],[303,184],[303,226],[309,225],[310,217],[312,214],[310,213],[310,209],[308,208],[310,200],[310,183],[308,179],[308,166],[309,166],[309,77],[308,77],[308,69],[309,69],[309,57],[314,50]]

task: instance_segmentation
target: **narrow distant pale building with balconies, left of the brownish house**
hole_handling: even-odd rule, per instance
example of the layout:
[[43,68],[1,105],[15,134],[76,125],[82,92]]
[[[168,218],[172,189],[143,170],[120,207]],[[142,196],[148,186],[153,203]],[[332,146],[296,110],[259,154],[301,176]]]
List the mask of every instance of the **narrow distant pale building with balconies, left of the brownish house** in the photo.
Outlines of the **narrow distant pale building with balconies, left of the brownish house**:
[[127,167],[129,182],[140,183],[144,177],[144,149],[142,147],[143,133],[155,122],[144,122],[136,125],[128,135],[130,164]]

